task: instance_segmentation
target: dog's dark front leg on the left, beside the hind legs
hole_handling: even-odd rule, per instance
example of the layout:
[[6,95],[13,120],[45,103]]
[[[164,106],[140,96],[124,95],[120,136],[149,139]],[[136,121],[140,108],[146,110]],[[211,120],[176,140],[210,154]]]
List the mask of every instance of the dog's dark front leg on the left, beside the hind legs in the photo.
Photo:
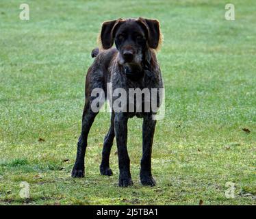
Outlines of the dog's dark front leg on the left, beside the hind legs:
[[127,122],[128,116],[122,112],[116,113],[114,118],[114,131],[118,151],[119,186],[132,185],[130,172],[130,159],[127,151]]

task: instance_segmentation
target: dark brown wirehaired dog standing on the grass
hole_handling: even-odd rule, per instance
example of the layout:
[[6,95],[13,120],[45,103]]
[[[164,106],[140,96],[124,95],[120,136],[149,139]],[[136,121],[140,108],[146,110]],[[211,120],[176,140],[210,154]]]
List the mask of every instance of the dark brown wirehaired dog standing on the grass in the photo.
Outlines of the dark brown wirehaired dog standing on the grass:
[[[90,127],[98,112],[92,110],[92,103],[97,96],[92,95],[95,88],[104,91],[103,99],[107,99],[107,83],[112,88],[164,88],[161,70],[157,62],[156,51],[162,42],[159,21],[146,18],[119,18],[105,21],[99,34],[100,48],[92,50],[94,62],[86,75],[86,101],[82,116],[81,135],[77,142],[77,158],[71,172],[72,177],[84,177],[84,157]],[[116,48],[112,48],[115,43]],[[118,96],[112,95],[112,103]],[[129,99],[125,99],[129,104]],[[142,99],[145,102],[145,99]],[[161,102],[157,91],[157,104]],[[133,103],[137,106],[139,103]],[[137,108],[136,108],[137,109]],[[133,116],[143,118],[142,125],[142,159],[140,162],[140,181],[142,185],[155,185],[151,173],[151,153],[156,120],[152,110],[134,112],[112,110],[110,129],[104,138],[101,175],[111,176],[109,159],[114,137],[118,149],[119,186],[133,185],[130,172],[130,159],[127,152],[127,121]]]

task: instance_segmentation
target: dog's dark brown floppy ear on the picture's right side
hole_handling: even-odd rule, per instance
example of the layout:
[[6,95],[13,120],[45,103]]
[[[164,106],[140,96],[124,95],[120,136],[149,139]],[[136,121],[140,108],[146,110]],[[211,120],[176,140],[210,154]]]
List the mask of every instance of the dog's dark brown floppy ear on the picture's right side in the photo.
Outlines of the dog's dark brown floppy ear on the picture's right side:
[[142,24],[146,30],[149,47],[152,49],[157,49],[162,41],[159,22],[157,20],[138,18],[138,23]]

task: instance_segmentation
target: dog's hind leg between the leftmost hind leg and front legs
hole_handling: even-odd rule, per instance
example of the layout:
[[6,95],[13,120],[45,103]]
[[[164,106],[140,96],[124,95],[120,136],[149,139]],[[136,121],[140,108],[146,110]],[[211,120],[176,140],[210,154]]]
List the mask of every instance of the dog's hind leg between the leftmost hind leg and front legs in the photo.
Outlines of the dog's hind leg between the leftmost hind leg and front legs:
[[107,132],[107,135],[104,138],[103,150],[102,150],[102,161],[99,170],[101,175],[112,176],[113,172],[110,169],[110,151],[112,149],[113,140],[115,137],[114,133],[114,112],[111,114],[110,129]]

